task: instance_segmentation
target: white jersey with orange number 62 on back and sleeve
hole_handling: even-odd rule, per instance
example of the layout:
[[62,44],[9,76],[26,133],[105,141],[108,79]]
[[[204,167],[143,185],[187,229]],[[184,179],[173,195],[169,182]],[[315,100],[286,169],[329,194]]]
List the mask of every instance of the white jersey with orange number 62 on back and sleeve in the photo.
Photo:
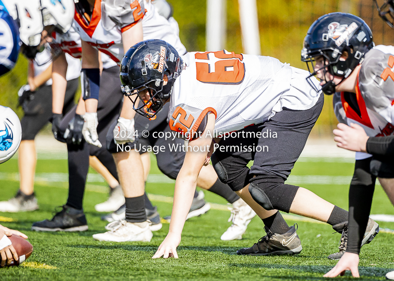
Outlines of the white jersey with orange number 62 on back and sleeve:
[[183,59],[187,66],[175,81],[167,121],[189,139],[209,112],[215,130],[225,133],[263,123],[283,107],[309,109],[320,96],[305,80],[309,72],[275,58],[223,50]]

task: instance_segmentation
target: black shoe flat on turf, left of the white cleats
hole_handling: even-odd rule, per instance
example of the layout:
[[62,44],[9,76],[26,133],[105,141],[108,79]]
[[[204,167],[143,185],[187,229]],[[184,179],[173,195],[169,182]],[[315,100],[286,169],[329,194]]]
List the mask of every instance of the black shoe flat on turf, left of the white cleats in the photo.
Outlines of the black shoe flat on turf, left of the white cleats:
[[[33,223],[32,230],[35,231],[85,231],[88,230],[83,210],[77,210],[67,205],[61,206],[62,210],[57,212],[51,220],[45,219]],[[55,211],[56,212],[56,211]]]

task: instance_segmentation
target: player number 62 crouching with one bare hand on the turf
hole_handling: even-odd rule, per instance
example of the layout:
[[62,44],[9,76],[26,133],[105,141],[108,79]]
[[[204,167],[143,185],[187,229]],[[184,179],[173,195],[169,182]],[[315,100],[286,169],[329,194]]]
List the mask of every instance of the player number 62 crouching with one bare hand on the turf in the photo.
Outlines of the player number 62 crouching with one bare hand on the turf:
[[[145,58],[157,52],[159,63],[146,64]],[[212,149],[215,144],[218,149],[212,162],[219,178],[255,210],[267,231],[257,244],[238,254],[301,251],[296,228],[289,227],[276,209],[343,228],[347,211],[307,189],[284,184],[323,106],[323,94],[305,81],[308,75],[274,58],[226,50],[188,53],[181,58],[162,40],[143,41],[126,53],[121,81],[136,112],[152,118],[169,102],[171,130],[189,141],[175,183],[170,229],[155,258],[170,253],[178,256],[176,247],[197,175],[209,162],[212,150],[208,153],[207,146]],[[320,88],[316,79],[313,83]],[[218,138],[218,133],[232,131],[239,134]],[[277,137],[263,138],[264,131],[275,132]],[[244,133],[249,137],[243,138]],[[269,151],[263,152],[263,146]],[[254,165],[249,169],[252,159]],[[367,234],[368,239],[372,234]]]

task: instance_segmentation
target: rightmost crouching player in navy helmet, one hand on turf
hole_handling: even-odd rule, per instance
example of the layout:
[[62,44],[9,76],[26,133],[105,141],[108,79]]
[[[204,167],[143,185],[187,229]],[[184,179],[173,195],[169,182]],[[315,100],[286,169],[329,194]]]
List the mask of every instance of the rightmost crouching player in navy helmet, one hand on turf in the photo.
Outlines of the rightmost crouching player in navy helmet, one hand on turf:
[[[388,1],[386,5],[390,2],[393,4]],[[386,18],[387,13],[381,15]],[[301,60],[314,63],[311,75],[322,81],[326,94],[334,94],[335,114],[347,124],[339,124],[334,130],[338,147],[356,151],[349,189],[347,248],[325,277],[336,277],[346,270],[359,277],[362,234],[369,226],[376,178],[394,203],[394,163],[390,157],[393,137],[388,137],[394,133],[394,47],[374,46],[372,32],[359,17],[331,13],[309,28]],[[392,275],[388,273],[387,278],[393,279]]]

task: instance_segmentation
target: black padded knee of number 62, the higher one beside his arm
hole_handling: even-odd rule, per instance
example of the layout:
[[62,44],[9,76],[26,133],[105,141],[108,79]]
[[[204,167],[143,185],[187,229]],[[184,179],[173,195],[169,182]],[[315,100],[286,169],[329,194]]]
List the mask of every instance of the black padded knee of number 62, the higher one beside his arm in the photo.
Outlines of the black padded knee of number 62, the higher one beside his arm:
[[228,184],[233,191],[241,190],[249,184],[252,176],[247,167],[248,159],[215,152],[211,160],[219,180]]

